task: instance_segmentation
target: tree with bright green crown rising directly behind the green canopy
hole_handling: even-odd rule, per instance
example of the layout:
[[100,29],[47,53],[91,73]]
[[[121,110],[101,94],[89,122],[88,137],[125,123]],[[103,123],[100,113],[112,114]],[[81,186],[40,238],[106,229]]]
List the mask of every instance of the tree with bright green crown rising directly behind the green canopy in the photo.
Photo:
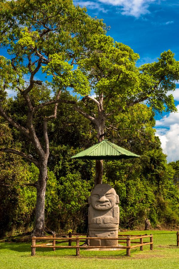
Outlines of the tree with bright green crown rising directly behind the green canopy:
[[[74,109],[96,127],[98,142],[104,139],[106,129],[115,129],[115,122],[131,106],[146,101],[155,111],[176,111],[169,91],[175,90],[179,80],[179,62],[174,54],[164,51],[157,62],[139,68],[139,55],[122,43],[106,35],[94,34],[88,42],[91,54],[78,59],[78,68],[68,74],[67,86],[83,97]],[[48,74],[59,77],[57,57],[51,55],[46,67]],[[52,80],[56,87],[59,79]],[[102,183],[103,161],[96,161],[95,184]]]

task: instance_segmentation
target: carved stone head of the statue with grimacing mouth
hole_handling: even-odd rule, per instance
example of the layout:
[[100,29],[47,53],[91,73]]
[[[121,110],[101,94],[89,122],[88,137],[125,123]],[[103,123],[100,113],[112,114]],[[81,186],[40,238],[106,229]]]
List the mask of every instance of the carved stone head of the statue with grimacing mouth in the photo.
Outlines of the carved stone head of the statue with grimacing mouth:
[[108,184],[98,184],[91,192],[89,204],[96,210],[109,210],[119,204],[119,196]]

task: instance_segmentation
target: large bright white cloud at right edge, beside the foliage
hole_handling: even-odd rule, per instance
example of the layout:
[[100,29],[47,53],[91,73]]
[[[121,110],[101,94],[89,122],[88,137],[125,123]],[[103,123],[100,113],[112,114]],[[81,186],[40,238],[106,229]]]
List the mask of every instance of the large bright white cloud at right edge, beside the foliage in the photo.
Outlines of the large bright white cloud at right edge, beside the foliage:
[[163,152],[168,162],[179,160],[179,105],[177,113],[170,113],[161,120],[156,120],[156,135],[159,136]]

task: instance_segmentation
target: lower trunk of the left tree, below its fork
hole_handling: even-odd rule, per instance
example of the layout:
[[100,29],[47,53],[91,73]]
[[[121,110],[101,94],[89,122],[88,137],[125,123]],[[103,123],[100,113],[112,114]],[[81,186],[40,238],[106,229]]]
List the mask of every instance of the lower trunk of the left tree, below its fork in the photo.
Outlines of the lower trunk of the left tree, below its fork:
[[47,183],[47,162],[43,163],[39,171],[39,179],[37,182],[37,199],[36,199],[36,215],[35,225],[32,232],[33,236],[45,235],[45,191]]

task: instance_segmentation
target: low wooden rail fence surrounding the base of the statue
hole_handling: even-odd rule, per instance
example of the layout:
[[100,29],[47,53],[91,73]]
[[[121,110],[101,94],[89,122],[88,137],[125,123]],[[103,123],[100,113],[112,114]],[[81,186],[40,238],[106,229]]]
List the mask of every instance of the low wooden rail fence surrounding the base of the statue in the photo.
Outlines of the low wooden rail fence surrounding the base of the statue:
[[[73,234],[75,235],[75,234]],[[131,249],[140,247],[140,250],[143,250],[143,246],[150,245],[150,249],[153,250],[153,235],[119,235],[117,238],[110,238],[110,237],[79,237],[79,235],[82,234],[76,234],[78,236],[72,237],[72,234],[70,234],[69,237],[57,237],[56,234],[52,236],[45,236],[45,237],[32,237],[32,245],[31,245],[31,255],[35,256],[35,249],[36,247],[48,247],[55,250],[56,248],[75,248],[76,249],[76,256],[80,255],[80,249],[92,249],[92,248],[117,248],[117,249],[126,249],[126,255],[130,256]],[[65,236],[65,235],[64,235]],[[150,242],[143,242],[144,238],[150,238]],[[65,239],[65,240],[64,240]],[[100,239],[100,240],[118,240],[118,243],[126,244],[126,246],[80,246],[80,242],[85,242],[86,239]],[[140,242],[133,242],[135,239],[140,239]],[[52,243],[43,243],[43,244],[37,244],[36,240],[53,240]],[[60,241],[60,242],[57,242]],[[62,242],[68,242],[68,246],[57,246],[58,243]],[[76,242],[75,246],[71,245],[71,242]],[[131,244],[134,244],[131,246]]]

